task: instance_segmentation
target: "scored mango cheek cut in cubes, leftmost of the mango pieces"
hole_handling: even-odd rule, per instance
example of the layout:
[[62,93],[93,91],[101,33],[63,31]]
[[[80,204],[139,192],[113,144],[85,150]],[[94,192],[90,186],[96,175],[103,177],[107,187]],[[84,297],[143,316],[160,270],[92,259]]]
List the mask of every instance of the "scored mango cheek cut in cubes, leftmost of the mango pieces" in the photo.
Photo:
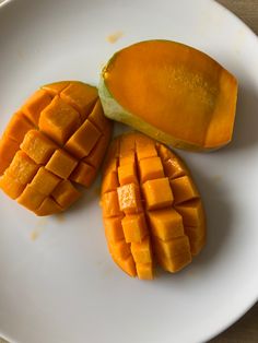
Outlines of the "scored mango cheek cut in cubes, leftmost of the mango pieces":
[[15,113],[0,141],[0,188],[35,212],[49,215],[90,187],[112,135],[97,90],[57,82],[35,92]]

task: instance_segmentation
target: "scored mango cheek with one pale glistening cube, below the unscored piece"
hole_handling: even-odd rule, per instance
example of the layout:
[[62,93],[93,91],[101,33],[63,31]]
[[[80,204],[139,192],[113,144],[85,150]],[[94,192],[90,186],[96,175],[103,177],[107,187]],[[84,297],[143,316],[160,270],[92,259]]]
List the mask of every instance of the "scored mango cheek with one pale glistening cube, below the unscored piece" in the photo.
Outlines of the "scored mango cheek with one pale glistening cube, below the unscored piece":
[[206,243],[204,211],[188,168],[141,133],[110,144],[101,204],[109,252],[130,276],[153,279],[155,261],[179,271]]

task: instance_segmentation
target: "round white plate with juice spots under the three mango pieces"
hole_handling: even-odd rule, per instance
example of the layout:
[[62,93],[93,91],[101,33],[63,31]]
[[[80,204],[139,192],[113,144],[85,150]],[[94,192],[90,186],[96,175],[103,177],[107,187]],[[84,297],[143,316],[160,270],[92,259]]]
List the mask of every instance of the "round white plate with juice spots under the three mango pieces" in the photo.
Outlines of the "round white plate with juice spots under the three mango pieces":
[[[108,43],[117,31],[124,36]],[[203,194],[207,247],[183,272],[141,282],[107,252],[97,182],[63,217],[37,218],[1,193],[0,331],[13,342],[201,342],[257,300],[258,44],[225,9],[208,0],[8,2],[0,9],[0,129],[40,84],[97,84],[115,50],[148,38],[195,46],[239,81],[233,143],[181,153]]]

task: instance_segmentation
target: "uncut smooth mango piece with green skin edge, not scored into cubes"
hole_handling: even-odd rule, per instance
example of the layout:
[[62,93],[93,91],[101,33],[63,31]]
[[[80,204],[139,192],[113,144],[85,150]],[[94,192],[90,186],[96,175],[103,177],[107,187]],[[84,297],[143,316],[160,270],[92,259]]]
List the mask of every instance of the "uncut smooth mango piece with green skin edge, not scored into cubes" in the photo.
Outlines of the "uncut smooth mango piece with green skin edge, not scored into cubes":
[[179,43],[141,42],[115,54],[99,96],[109,118],[176,147],[212,150],[232,138],[236,79]]

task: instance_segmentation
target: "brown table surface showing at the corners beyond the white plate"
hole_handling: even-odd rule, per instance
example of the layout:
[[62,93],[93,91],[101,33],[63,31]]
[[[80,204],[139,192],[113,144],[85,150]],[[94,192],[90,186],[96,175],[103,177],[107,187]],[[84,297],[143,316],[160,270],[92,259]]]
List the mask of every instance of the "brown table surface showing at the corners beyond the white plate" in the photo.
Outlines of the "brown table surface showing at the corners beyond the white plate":
[[[216,0],[258,34],[258,0]],[[2,2],[2,0],[0,0]],[[235,324],[209,343],[257,343],[258,303]],[[0,338],[0,343],[8,343]]]

